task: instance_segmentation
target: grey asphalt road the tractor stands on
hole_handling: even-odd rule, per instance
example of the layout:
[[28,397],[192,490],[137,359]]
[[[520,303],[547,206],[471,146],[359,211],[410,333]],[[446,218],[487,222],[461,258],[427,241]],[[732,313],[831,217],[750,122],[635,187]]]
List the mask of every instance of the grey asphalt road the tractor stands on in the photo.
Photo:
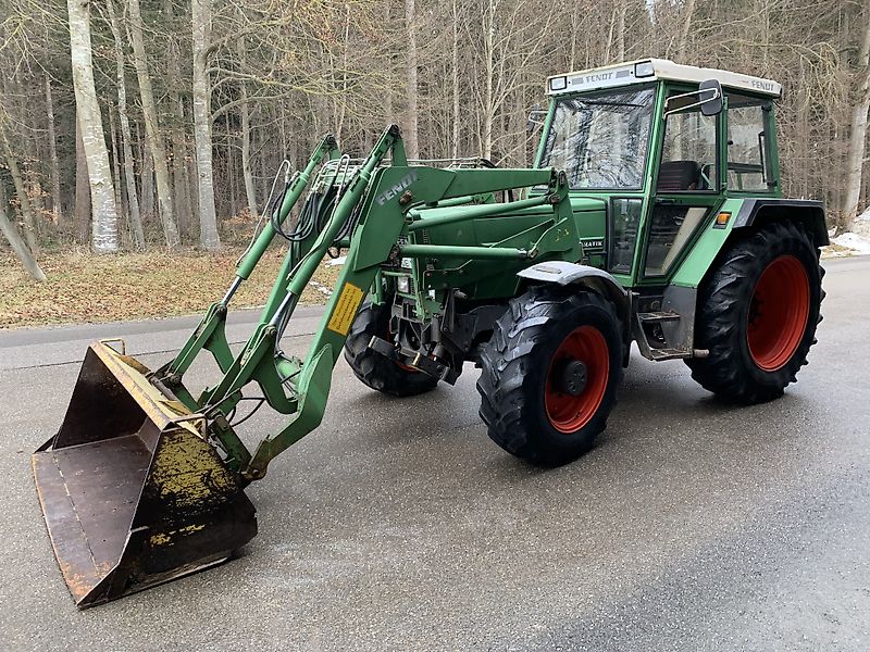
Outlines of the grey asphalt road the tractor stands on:
[[489,441],[472,368],[397,401],[341,362],[323,426],[248,489],[245,556],[85,612],[29,453],[88,341],[123,335],[156,366],[192,321],[2,333],[0,649],[866,651],[870,258],[825,266],[819,343],[783,399],[723,405],[681,363],[635,354],[599,446],[555,471]]

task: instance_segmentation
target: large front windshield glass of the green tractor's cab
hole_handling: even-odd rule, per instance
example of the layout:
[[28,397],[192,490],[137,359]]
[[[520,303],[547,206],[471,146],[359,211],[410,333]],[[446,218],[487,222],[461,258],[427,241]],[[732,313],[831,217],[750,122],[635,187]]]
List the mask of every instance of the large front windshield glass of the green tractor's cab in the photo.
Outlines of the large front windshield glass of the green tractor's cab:
[[645,88],[558,100],[540,166],[564,170],[572,190],[639,189],[654,99]]

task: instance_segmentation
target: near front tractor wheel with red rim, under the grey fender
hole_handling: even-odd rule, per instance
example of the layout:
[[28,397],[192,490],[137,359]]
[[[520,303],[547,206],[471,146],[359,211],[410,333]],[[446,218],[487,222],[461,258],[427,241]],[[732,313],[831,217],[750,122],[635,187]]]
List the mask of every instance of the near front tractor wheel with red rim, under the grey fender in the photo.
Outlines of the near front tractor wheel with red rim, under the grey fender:
[[537,287],[512,299],[481,352],[489,437],[535,465],[575,460],[607,427],[623,350],[616,308],[600,294]]

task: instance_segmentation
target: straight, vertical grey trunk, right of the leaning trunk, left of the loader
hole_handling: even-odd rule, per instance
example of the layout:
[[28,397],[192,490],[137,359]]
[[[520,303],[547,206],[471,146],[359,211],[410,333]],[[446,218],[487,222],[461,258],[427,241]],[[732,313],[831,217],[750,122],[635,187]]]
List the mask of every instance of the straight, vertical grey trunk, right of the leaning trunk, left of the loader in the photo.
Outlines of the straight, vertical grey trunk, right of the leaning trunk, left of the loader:
[[194,140],[199,188],[199,243],[207,251],[221,248],[214,210],[214,176],[211,151],[211,83],[206,70],[211,40],[211,0],[192,0],[194,33]]

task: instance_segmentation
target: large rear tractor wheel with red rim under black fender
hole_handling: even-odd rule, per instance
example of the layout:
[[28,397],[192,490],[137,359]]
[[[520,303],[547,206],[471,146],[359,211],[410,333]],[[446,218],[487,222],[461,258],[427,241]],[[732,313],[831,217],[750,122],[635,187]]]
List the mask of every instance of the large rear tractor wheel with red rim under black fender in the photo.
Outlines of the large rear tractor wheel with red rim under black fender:
[[717,396],[761,403],[782,396],[807,364],[824,298],[819,250],[790,222],[737,240],[705,281],[695,315],[692,377]]

